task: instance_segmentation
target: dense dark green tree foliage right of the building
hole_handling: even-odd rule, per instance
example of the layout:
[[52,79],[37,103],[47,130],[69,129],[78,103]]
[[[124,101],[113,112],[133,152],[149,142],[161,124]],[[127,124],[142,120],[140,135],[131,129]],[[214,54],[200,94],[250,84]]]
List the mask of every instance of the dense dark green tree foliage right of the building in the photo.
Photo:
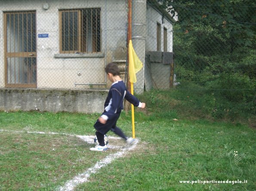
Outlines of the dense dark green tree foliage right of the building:
[[255,106],[256,1],[161,0],[161,3],[173,16],[178,16],[173,27],[178,80],[222,90],[219,95],[229,101]]

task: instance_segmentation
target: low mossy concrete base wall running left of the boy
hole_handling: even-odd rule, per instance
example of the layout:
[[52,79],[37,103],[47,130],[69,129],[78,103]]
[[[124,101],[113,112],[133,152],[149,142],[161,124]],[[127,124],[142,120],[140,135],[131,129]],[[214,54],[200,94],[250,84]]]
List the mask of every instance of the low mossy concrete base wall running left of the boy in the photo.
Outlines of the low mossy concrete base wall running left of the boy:
[[0,89],[0,110],[102,113],[108,91]]

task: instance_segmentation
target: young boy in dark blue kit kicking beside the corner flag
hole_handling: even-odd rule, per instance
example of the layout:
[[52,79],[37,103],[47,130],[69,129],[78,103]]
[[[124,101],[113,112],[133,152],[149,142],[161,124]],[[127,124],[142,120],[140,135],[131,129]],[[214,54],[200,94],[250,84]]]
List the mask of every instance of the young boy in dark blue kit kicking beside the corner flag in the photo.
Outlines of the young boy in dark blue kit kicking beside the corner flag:
[[107,73],[108,79],[113,84],[110,87],[108,97],[106,98],[104,104],[104,112],[94,124],[99,145],[90,148],[91,151],[105,151],[108,149],[104,143],[104,134],[106,134],[109,130],[125,139],[126,143],[132,144],[134,139],[127,138],[123,134],[123,131],[116,126],[117,119],[119,118],[121,110],[123,109],[123,99],[126,99],[136,107],[145,107],[145,103],[141,103],[126,89],[124,82],[120,78],[120,71],[117,64],[109,63],[105,68],[105,72]]

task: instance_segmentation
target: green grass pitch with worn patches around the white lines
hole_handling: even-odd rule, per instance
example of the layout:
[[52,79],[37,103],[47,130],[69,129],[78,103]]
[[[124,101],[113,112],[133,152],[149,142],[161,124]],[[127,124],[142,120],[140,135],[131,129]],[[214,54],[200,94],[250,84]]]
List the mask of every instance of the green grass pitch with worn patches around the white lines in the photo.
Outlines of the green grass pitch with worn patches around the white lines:
[[[204,110],[186,113],[185,108],[198,110],[191,96],[184,96],[182,105],[178,105],[181,99],[167,101],[167,95],[162,96],[157,99],[159,95],[152,93],[141,97],[148,108],[136,110],[136,137],[140,140],[136,149],[92,173],[74,190],[256,190],[256,129],[242,122],[212,120]],[[67,135],[94,135],[98,116],[1,111],[0,190],[58,190],[97,161],[117,152],[89,151],[93,144]],[[130,112],[123,112],[117,125],[131,136]],[[112,132],[108,135],[114,136]],[[237,179],[247,183],[235,183]],[[220,183],[227,180],[231,182]]]

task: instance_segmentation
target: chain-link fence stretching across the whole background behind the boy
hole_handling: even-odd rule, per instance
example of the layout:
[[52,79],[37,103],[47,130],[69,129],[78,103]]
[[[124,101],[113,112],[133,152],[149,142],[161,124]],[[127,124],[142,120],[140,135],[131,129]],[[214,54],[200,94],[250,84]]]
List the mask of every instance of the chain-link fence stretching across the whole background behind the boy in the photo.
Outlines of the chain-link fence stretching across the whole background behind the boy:
[[[127,0],[1,0],[0,7],[0,87],[108,89],[110,62],[127,81]],[[253,98],[255,21],[252,1],[133,0],[133,47],[144,63],[135,92],[193,81],[240,98],[250,90]]]

